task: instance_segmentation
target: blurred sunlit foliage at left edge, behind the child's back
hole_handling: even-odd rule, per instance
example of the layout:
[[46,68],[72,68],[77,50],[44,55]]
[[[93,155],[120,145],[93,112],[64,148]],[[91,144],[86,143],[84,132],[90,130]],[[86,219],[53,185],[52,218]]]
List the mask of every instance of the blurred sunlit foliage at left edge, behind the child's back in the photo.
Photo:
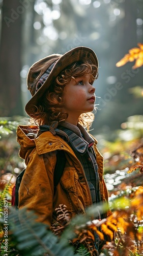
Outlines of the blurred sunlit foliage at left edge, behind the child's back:
[[[0,170],[1,179],[10,180],[11,174],[18,174],[24,167],[24,162],[18,156],[19,144],[16,142],[18,123],[23,123],[23,117],[0,119]],[[15,182],[13,177],[12,183]]]

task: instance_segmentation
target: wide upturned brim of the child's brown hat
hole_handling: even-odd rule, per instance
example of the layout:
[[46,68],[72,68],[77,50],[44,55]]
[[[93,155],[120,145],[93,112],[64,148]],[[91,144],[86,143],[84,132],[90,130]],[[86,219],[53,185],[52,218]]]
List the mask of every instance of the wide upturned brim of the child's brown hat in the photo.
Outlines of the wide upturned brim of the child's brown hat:
[[[56,54],[54,56],[55,56],[55,58],[53,61],[56,60]],[[43,96],[43,94],[47,91],[50,84],[52,84],[52,82],[55,80],[55,78],[67,66],[69,66],[72,63],[77,62],[77,61],[89,60],[94,65],[96,65],[98,68],[98,58],[97,58],[95,52],[91,48],[88,48],[88,47],[83,47],[83,46],[76,47],[61,56],[59,56],[59,54],[57,54],[57,59],[58,60],[56,61],[55,65],[54,65],[53,69],[51,70],[46,81],[43,83],[41,88],[35,93],[35,95],[25,105],[25,112],[29,116],[31,116],[32,114],[35,113],[35,110],[36,110],[35,106],[38,105],[38,102],[41,99],[41,97]]]

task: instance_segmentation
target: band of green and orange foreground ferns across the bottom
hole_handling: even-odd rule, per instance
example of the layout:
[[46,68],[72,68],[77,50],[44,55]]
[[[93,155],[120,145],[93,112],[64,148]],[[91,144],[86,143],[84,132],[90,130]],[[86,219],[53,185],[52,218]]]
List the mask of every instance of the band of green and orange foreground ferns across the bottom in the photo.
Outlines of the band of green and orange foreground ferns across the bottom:
[[[7,196],[5,193],[4,190],[0,195],[1,201],[3,200],[2,195],[5,197],[4,206],[6,207]],[[122,190],[121,195],[110,201],[112,215],[103,220],[93,220],[92,217],[98,215],[98,211],[103,212],[106,208],[105,205],[93,205],[88,208],[87,215],[77,215],[72,220],[67,218],[66,206],[60,205],[59,208],[62,209],[62,215],[59,211],[60,225],[57,225],[52,232],[45,224],[36,222],[34,212],[26,211],[26,209],[17,211],[15,208],[9,207],[9,225],[5,224],[5,208],[2,204],[1,255],[5,255],[6,252],[7,255],[17,256],[98,255],[92,244],[94,241],[92,230],[98,234],[101,242],[104,240],[104,236],[109,236],[112,239],[115,234],[115,241],[106,242],[99,255],[142,255],[142,200],[142,187],[130,187],[130,189]],[[4,227],[8,227],[8,233]],[[8,242],[6,234],[8,234]],[[82,246],[80,246],[81,244]]]

